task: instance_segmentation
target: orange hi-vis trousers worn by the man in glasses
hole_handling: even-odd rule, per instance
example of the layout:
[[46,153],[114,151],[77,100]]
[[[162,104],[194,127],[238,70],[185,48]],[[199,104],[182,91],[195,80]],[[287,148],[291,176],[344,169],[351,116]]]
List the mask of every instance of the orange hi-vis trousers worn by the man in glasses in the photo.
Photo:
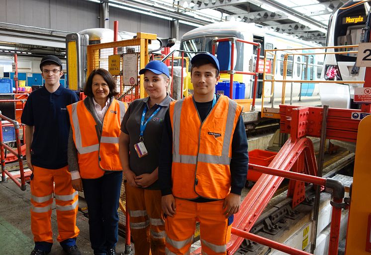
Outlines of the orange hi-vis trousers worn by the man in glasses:
[[[55,184],[55,185],[54,185]],[[62,242],[79,235],[76,226],[79,195],[72,188],[68,167],[46,169],[33,166],[31,181],[31,230],[35,242],[53,243],[51,214],[53,197],[57,209],[58,237]]]

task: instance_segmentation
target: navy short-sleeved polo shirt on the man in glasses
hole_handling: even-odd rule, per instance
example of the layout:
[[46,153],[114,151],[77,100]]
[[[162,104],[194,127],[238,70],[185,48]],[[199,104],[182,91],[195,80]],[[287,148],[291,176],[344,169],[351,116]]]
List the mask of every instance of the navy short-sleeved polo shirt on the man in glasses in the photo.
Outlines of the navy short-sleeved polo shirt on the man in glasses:
[[68,165],[70,120],[67,106],[77,101],[77,94],[62,85],[54,93],[50,93],[44,85],[30,94],[21,122],[34,126],[32,165],[47,169],[59,169]]

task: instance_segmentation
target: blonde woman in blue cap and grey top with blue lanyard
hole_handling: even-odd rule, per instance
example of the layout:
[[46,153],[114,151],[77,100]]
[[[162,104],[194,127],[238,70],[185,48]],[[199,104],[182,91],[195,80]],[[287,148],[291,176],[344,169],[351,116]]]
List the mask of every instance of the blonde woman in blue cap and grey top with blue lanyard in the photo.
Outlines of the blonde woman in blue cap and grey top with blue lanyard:
[[148,97],[132,102],[121,123],[119,154],[126,177],[126,202],[135,254],[165,254],[165,223],[158,182],[159,151],[163,120],[173,99],[169,69],[151,61],[144,74]]

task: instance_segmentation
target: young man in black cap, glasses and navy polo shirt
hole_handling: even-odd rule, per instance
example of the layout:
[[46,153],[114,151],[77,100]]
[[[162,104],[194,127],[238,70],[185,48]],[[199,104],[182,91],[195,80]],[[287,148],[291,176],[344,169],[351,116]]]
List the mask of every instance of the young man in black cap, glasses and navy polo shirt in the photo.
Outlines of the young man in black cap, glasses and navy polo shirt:
[[79,101],[75,92],[64,88],[62,62],[45,56],[40,63],[45,79],[42,88],[32,92],[21,117],[26,125],[26,157],[31,175],[31,230],[35,248],[31,255],[50,253],[53,245],[51,214],[56,201],[57,241],[69,255],[80,255],[76,246],[78,193],[72,188],[68,171],[67,144],[70,122],[66,106]]

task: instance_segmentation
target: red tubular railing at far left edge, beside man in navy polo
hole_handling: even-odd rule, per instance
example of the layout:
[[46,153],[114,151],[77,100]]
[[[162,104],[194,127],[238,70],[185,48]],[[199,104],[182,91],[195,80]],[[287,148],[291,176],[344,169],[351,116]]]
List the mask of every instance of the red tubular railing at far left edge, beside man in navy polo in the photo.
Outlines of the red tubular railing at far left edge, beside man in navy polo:
[[[13,148],[8,146],[3,142],[3,136],[2,136],[2,121],[5,120],[9,123],[11,123],[14,126],[15,130],[15,139],[17,144],[17,151],[15,151]],[[12,153],[14,156],[18,158],[19,163],[19,171],[20,171],[20,182],[5,169],[5,151],[4,148],[6,148],[10,153]],[[7,118],[6,116],[1,114],[0,111],[0,154],[1,154],[1,182],[5,182],[5,174],[22,190],[26,190],[26,182],[24,177],[24,169],[23,169],[23,155],[22,155],[22,149],[20,144],[20,136],[19,136],[19,123],[17,121],[11,120]]]

